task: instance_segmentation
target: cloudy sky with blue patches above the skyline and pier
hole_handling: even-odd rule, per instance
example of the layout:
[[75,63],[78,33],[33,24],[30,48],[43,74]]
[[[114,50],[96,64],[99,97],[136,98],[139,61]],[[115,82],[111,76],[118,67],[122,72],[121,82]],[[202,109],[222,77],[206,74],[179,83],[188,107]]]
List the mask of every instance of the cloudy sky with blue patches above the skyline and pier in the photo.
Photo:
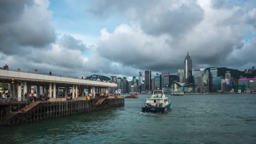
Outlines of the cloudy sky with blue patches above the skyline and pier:
[[256,1],[0,1],[0,66],[10,69],[177,74],[187,52],[193,68],[255,66]]

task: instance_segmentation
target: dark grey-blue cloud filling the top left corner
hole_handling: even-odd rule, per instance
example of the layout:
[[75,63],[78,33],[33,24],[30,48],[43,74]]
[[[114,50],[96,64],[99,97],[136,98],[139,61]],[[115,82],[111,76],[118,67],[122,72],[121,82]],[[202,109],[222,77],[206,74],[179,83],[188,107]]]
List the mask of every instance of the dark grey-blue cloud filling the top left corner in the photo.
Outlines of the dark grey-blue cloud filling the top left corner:
[[1,1],[0,47],[3,53],[23,54],[31,47],[42,48],[55,41],[48,5],[48,1]]

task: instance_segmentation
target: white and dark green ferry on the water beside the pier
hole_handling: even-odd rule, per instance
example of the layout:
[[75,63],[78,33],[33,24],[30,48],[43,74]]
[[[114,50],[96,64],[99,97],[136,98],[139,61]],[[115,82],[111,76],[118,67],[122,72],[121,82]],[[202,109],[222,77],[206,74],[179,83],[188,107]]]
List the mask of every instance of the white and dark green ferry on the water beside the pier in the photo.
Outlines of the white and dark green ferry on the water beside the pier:
[[151,98],[148,98],[142,112],[164,113],[170,109],[171,101],[165,97],[164,91],[154,91]]

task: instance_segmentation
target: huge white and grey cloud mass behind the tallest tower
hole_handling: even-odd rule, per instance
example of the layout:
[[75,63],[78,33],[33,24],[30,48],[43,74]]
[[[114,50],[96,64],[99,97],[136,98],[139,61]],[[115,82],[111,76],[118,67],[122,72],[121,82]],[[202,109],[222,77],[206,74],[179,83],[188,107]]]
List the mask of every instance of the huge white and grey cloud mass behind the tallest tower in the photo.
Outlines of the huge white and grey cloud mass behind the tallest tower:
[[[103,28],[97,50],[109,61],[143,70],[176,73],[177,69],[184,67],[187,52],[193,59],[194,68],[234,66],[243,69],[230,59],[235,51],[254,51],[245,44],[249,27],[254,26],[254,11],[247,14],[246,9],[234,3],[204,2],[207,4],[160,1],[160,4],[150,5],[149,2],[142,4],[141,9],[134,3],[103,2],[106,8],[100,4],[94,9],[94,14],[106,16],[107,12],[118,11],[127,16],[125,14],[130,13],[132,16],[127,18],[132,17],[131,21],[139,24],[123,23],[113,33]],[[173,7],[167,9],[164,3]],[[138,11],[146,12],[141,14]],[[177,20],[174,20],[175,16]],[[249,25],[248,19],[251,20]],[[240,59],[240,62],[248,63],[246,59]]]

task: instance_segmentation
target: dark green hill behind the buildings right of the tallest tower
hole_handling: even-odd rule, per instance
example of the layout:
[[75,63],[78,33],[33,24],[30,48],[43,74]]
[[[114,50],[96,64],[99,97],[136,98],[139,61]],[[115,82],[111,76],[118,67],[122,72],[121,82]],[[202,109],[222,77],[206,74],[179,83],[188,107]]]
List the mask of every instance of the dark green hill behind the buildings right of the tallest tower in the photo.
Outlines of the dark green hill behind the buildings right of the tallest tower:
[[[210,70],[210,68],[206,68],[205,70]],[[245,71],[240,71],[237,69],[229,69],[229,68],[218,68],[218,76],[225,77],[226,71],[230,71],[231,77],[234,79],[240,79],[240,75],[245,75]]]

